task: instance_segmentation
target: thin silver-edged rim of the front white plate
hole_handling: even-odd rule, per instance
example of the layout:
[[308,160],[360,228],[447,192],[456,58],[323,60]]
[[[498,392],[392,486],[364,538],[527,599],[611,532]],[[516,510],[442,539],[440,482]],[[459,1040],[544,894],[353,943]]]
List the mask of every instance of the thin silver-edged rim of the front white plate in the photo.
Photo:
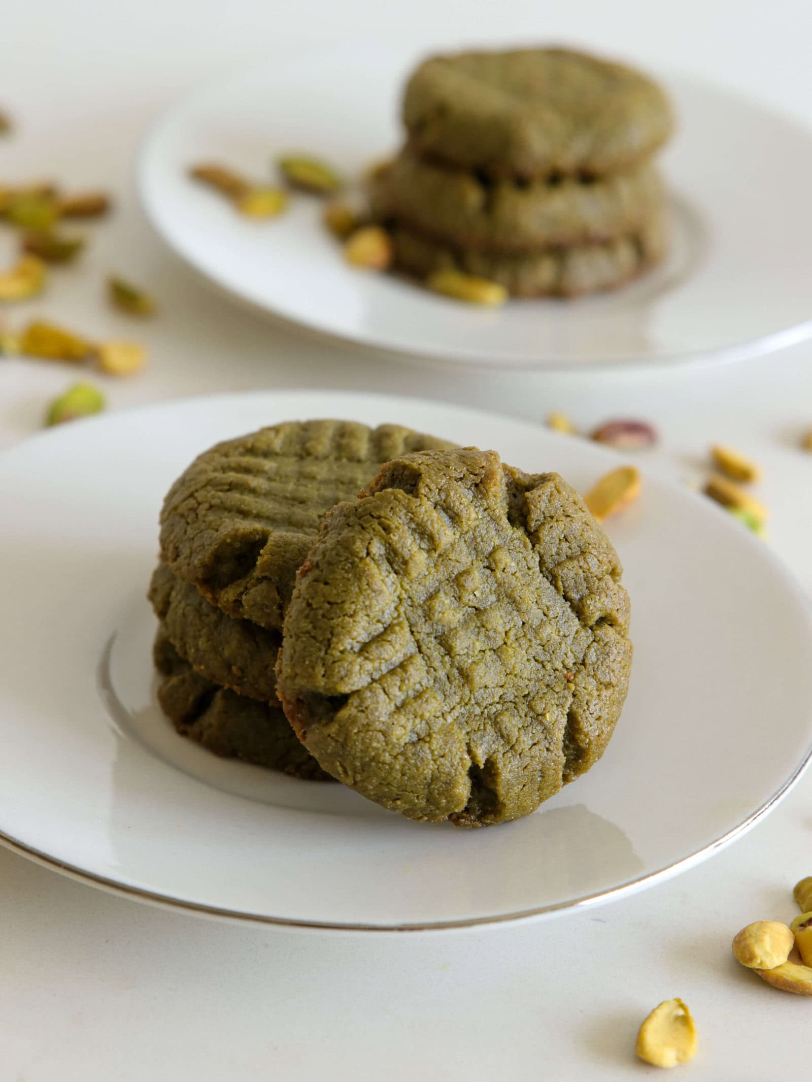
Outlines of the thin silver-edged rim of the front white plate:
[[[435,406],[442,409],[453,409],[454,411],[460,411],[472,417],[487,418],[491,421],[507,421],[516,422],[517,420],[522,421],[530,428],[537,428],[538,431],[544,431],[542,424],[534,424],[530,420],[519,419],[509,413],[503,413],[495,410],[482,409],[479,407],[470,406],[450,406],[448,403],[441,399],[434,398],[423,398],[414,395],[400,395],[400,394],[386,394],[377,392],[356,392],[356,391],[323,391],[315,390],[308,387],[295,387],[295,388],[284,388],[280,391],[275,391],[272,388],[267,388],[259,394],[267,397],[274,397],[276,400],[282,398],[296,398],[299,396],[314,396],[314,395],[325,395],[329,394],[331,398],[336,399],[336,405],[340,401],[347,400],[358,400],[367,398],[375,401],[385,403],[387,400],[400,404],[401,406],[409,404],[425,407]],[[244,401],[255,401],[257,397],[257,392],[226,392],[219,394],[201,394],[191,395],[183,398],[171,398],[163,399],[159,401],[154,401],[151,404],[146,404],[142,406],[134,407],[127,410],[116,410],[111,413],[101,414],[93,418],[88,418],[83,422],[84,432],[89,427],[104,427],[111,423],[111,419],[120,414],[125,414],[130,418],[137,415],[148,415],[154,412],[172,412],[175,409],[184,407],[215,407],[218,403],[236,403],[238,400]],[[336,410],[340,412],[340,410]],[[13,445],[6,450],[0,452],[0,464],[4,464],[6,460],[13,459],[17,453],[25,453],[25,450],[32,445],[41,446],[44,441],[59,440],[69,434],[64,428],[50,428],[42,430],[36,433],[32,437],[21,440],[19,443]],[[76,431],[76,430],[75,430]],[[618,459],[616,452],[607,448],[594,448],[598,451],[601,457],[607,458],[609,461],[614,461]],[[677,496],[680,499],[692,499],[692,494],[683,491],[674,480],[664,476],[656,469],[651,466],[643,467],[643,474],[649,475],[656,479],[657,485],[663,486],[668,489],[673,496]],[[731,524],[732,528],[732,524]],[[758,551],[760,558],[767,560],[768,564],[772,565],[772,569],[777,573],[786,583],[786,585],[794,591],[799,599],[802,609],[806,611],[810,624],[812,625],[812,598],[810,598],[807,591],[803,589],[801,583],[798,581],[794,571],[771,550],[767,549],[758,541],[758,539],[748,538],[748,541],[754,546],[754,551]],[[97,872],[90,871],[86,868],[82,868],[78,865],[72,863],[68,860],[63,860],[58,857],[52,856],[36,846],[29,845],[27,842],[9,834],[0,828],[0,845],[18,856],[25,857],[32,860],[42,867],[45,867],[52,871],[59,874],[64,874],[69,879],[82,882],[89,886],[94,886],[96,888],[106,890],[110,894],[116,894],[121,897],[129,898],[131,900],[141,901],[148,905],[154,905],[159,908],[188,912],[194,915],[208,916],[217,920],[239,922],[241,924],[259,924],[272,927],[278,927],[288,931],[302,932],[308,931],[312,933],[378,933],[378,934],[391,934],[391,933],[442,933],[442,932],[462,932],[470,928],[479,927],[500,927],[503,925],[511,925],[519,922],[531,922],[544,919],[550,919],[555,916],[561,916],[568,912],[574,912],[576,910],[583,910],[586,908],[591,908],[594,906],[603,905],[610,901],[618,900],[623,897],[630,896],[638,892],[645,889],[649,886],[653,886],[657,883],[665,882],[673,876],[680,874],[683,871],[688,871],[690,868],[695,867],[705,860],[709,859],[717,852],[721,850],[726,846],[730,845],[736,839],[744,836],[749,830],[751,830],[764,816],[772,812],[777,805],[788,795],[791,789],[795,788],[797,782],[803,776],[806,770],[812,764],[812,742],[807,748],[801,761],[797,763],[788,775],[787,778],[754,810],[746,815],[742,820],[734,823],[731,828],[723,831],[717,837],[713,839],[710,842],[703,845],[701,848],[689,853],[687,856],[673,863],[663,866],[653,871],[647,872],[643,875],[638,875],[630,880],[626,880],[623,883],[618,883],[608,889],[598,890],[593,894],[582,895],[577,898],[570,898],[564,901],[554,902],[545,906],[530,907],[528,909],[515,910],[507,913],[496,913],[496,914],[484,914],[480,916],[471,916],[464,919],[451,919],[451,920],[439,920],[439,921],[417,921],[417,922],[398,922],[398,923],[370,923],[370,922],[351,922],[351,921],[315,921],[306,919],[296,918],[285,918],[285,916],[275,916],[264,913],[247,912],[236,909],[229,909],[225,907],[211,906],[204,902],[195,902],[189,899],[178,898],[171,894],[162,894],[159,890],[150,890],[145,887],[134,886],[128,883],[122,883],[120,881],[110,879],[109,876],[102,875]]]

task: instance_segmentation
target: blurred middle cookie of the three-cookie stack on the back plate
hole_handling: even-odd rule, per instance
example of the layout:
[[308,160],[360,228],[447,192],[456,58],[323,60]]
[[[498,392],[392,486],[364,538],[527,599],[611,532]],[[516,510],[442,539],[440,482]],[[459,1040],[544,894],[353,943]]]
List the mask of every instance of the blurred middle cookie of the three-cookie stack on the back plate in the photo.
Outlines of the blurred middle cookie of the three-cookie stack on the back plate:
[[664,206],[652,166],[591,182],[489,180],[403,150],[372,195],[377,216],[466,249],[523,254],[639,230]]

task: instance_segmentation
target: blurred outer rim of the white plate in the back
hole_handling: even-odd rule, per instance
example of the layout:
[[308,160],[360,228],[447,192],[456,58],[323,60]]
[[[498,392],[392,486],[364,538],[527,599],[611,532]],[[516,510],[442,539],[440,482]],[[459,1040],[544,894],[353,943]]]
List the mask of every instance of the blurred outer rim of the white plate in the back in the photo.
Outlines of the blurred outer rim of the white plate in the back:
[[[336,52],[346,52],[348,49],[358,48],[358,43],[351,39],[344,39],[331,49],[312,48],[297,55],[296,60],[283,60],[276,63],[277,69],[293,68],[303,60],[329,55],[334,57]],[[409,52],[417,50],[410,45]],[[403,50],[403,55],[405,50]],[[392,53],[394,55],[394,53]],[[398,54],[400,55],[400,53]],[[288,329],[298,333],[308,334],[322,342],[329,342],[344,348],[351,347],[363,351],[364,354],[374,354],[390,361],[402,361],[408,359],[415,364],[425,366],[441,367],[443,369],[455,369],[462,372],[467,371],[536,371],[536,372],[568,372],[575,374],[578,372],[596,371],[633,371],[639,369],[671,369],[684,367],[687,369],[706,368],[711,366],[731,365],[737,361],[748,360],[755,357],[768,356],[781,349],[789,348],[812,338],[812,309],[810,315],[793,324],[783,327],[755,339],[737,341],[717,348],[692,348],[689,352],[663,353],[656,356],[643,353],[625,354],[623,358],[604,358],[593,360],[577,360],[573,362],[562,354],[548,354],[545,357],[509,358],[500,365],[480,355],[471,355],[465,351],[460,352],[453,346],[435,345],[412,348],[398,348],[392,346],[387,339],[381,338],[380,333],[370,333],[363,339],[354,337],[350,333],[329,329],[314,322],[303,320],[279,311],[264,303],[258,296],[250,295],[245,292],[237,292],[234,287],[222,278],[215,269],[204,266],[201,261],[190,255],[185,249],[175,243],[170,230],[164,228],[162,215],[158,204],[149,198],[150,175],[152,160],[155,159],[155,146],[159,142],[165,129],[170,128],[189,106],[192,106],[202,98],[212,94],[218,87],[231,84],[241,79],[250,79],[257,72],[269,67],[272,60],[256,62],[242,68],[228,67],[221,69],[214,75],[198,80],[194,85],[187,88],[173,102],[171,102],[149,126],[143,134],[135,155],[134,181],[135,189],[141,209],[146,216],[152,230],[160,240],[181,259],[185,266],[195,272],[202,281],[213,288],[221,295],[230,299],[231,303],[237,303],[249,308],[254,314],[267,320],[281,324]],[[738,88],[723,82],[715,82],[711,79],[697,77],[692,72],[678,68],[666,67],[663,69],[663,81],[666,84],[684,85],[696,89],[703,93],[722,95],[729,100],[737,102],[750,109],[756,109],[768,115],[782,124],[791,128],[796,133],[806,135],[812,142],[812,130],[808,129],[798,118],[785,109],[776,108],[772,103],[762,101],[741,91]]]

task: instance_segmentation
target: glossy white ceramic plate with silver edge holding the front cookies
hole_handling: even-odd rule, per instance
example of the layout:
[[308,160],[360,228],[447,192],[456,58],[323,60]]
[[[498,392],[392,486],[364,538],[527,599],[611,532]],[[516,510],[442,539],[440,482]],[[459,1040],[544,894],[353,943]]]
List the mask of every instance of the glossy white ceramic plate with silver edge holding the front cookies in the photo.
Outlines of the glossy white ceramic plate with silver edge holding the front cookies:
[[412,399],[201,398],[83,421],[0,457],[0,835],[147,900],[281,924],[448,927],[603,901],[710,855],[795,781],[812,739],[812,622],[760,541],[648,477],[610,526],[631,690],[602,761],[535,815],[463,831],[338,786],[223,762],[154,694],[144,597],[161,498],[214,440],[292,418],[397,419],[584,487],[586,440]]

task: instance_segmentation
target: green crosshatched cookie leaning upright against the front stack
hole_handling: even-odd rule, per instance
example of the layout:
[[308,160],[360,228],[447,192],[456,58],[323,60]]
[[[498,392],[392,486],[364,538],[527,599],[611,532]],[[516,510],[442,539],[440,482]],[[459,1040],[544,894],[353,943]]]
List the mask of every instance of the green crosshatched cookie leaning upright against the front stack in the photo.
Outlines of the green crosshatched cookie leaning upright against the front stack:
[[299,571],[285,714],[328,773],[411,819],[528,815],[600,757],[621,713],[621,573],[557,474],[476,448],[389,462]]

